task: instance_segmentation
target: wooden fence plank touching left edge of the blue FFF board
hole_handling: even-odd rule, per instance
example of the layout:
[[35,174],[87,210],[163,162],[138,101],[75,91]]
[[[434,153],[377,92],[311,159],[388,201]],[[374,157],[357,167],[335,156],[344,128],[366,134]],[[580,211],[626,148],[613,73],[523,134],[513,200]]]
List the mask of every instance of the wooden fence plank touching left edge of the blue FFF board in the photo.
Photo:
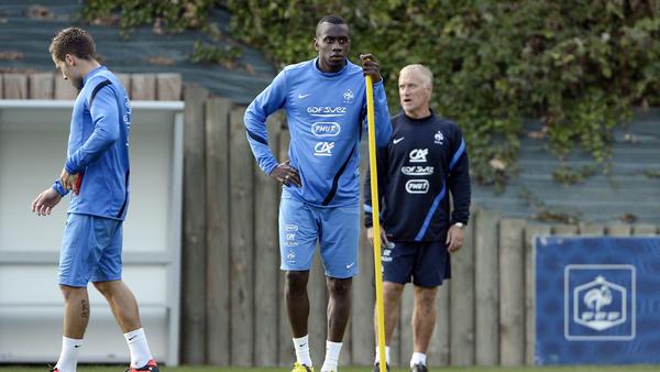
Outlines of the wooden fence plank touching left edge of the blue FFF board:
[[525,228],[525,362],[535,364],[536,342],[536,273],[534,239],[549,236],[550,225],[527,225]]

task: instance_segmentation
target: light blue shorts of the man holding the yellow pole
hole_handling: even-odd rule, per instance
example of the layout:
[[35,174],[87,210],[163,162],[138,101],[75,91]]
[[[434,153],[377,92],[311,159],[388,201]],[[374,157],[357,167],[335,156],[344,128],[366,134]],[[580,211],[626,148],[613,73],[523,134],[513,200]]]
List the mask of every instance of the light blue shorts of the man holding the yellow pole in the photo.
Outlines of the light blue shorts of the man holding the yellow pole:
[[346,278],[358,275],[360,205],[321,208],[283,194],[279,204],[280,269],[311,269],[317,240],[327,276]]

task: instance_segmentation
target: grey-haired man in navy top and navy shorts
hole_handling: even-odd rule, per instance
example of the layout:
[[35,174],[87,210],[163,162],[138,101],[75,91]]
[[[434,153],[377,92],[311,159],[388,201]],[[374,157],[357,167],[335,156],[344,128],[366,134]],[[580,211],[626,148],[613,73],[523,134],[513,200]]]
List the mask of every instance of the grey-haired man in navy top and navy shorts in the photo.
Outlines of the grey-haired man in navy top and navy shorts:
[[[413,372],[426,372],[426,352],[436,325],[438,286],[451,276],[449,253],[463,244],[470,217],[468,152],[461,130],[429,107],[433,75],[422,65],[402,69],[404,112],[392,118],[393,134],[377,150],[386,360],[398,322],[404,285],[415,286]],[[370,173],[364,183],[365,227],[373,244]],[[449,193],[453,197],[450,212]],[[374,371],[378,371],[378,350]],[[389,365],[387,365],[389,369]]]

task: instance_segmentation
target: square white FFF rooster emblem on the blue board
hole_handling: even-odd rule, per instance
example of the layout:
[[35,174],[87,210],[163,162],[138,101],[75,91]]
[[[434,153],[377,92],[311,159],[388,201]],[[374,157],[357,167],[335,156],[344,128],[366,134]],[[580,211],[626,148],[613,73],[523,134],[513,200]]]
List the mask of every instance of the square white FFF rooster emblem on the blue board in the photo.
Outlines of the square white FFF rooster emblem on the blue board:
[[635,338],[635,266],[568,265],[564,336],[568,340]]

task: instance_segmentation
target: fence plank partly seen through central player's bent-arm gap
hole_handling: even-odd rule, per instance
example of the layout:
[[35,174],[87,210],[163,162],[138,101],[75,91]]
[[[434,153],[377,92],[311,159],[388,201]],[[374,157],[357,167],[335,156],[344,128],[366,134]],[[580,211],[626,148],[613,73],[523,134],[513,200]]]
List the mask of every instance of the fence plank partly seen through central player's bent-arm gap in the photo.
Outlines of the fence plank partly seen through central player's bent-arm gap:
[[[180,77],[180,76],[179,76]],[[277,153],[280,122],[268,120],[268,143]],[[254,161],[253,161],[254,162]],[[277,364],[277,277],[279,276],[279,184],[254,166],[254,365]]]

